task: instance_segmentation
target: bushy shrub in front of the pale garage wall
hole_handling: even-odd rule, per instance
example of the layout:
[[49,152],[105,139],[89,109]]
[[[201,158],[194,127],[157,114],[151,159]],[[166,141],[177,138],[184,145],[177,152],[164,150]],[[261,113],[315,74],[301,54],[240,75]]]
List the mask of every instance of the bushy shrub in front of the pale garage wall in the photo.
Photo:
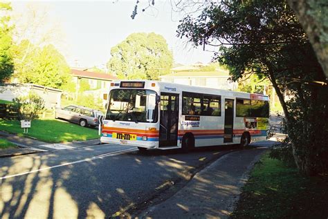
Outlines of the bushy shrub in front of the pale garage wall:
[[33,120],[44,111],[44,99],[30,91],[28,95],[13,99],[19,120]]

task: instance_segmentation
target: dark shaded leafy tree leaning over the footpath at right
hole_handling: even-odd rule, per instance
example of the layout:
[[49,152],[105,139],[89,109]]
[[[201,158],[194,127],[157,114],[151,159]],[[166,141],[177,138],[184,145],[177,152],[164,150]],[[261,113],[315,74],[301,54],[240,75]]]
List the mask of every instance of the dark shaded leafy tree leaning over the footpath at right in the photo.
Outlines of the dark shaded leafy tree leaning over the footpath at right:
[[[284,109],[296,164],[309,175],[328,171],[328,90],[316,83],[325,75],[285,1],[211,3],[197,17],[185,17],[177,32],[195,46],[219,46],[215,57],[234,80],[245,73],[270,79]],[[293,98],[285,102],[284,93]]]

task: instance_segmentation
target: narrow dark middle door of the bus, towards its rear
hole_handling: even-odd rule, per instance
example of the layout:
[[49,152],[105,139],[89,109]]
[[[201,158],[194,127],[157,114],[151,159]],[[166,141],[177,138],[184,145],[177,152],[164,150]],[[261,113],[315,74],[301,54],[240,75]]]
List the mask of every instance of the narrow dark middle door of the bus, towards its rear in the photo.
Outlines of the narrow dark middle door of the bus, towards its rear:
[[233,99],[224,102],[224,142],[233,142]]

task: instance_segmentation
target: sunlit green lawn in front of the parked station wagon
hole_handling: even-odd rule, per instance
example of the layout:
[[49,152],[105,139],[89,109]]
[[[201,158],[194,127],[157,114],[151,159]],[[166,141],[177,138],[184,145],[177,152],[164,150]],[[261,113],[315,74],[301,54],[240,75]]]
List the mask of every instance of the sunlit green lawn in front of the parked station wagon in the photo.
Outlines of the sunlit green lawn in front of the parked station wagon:
[[1,120],[1,130],[8,133],[18,133],[21,136],[35,137],[37,140],[50,143],[71,142],[73,140],[91,140],[98,138],[98,130],[83,128],[77,124],[72,124],[62,120],[33,120],[28,134],[24,134],[19,121]]

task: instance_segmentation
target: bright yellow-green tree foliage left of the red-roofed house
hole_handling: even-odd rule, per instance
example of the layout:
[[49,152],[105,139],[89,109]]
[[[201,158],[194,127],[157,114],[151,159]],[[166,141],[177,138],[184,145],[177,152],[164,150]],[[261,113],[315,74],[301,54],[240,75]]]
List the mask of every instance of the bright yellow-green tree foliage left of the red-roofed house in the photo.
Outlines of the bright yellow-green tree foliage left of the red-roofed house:
[[61,88],[71,79],[69,73],[66,60],[52,45],[41,48],[24,40],[15,48],[15,77],[21,83]]

